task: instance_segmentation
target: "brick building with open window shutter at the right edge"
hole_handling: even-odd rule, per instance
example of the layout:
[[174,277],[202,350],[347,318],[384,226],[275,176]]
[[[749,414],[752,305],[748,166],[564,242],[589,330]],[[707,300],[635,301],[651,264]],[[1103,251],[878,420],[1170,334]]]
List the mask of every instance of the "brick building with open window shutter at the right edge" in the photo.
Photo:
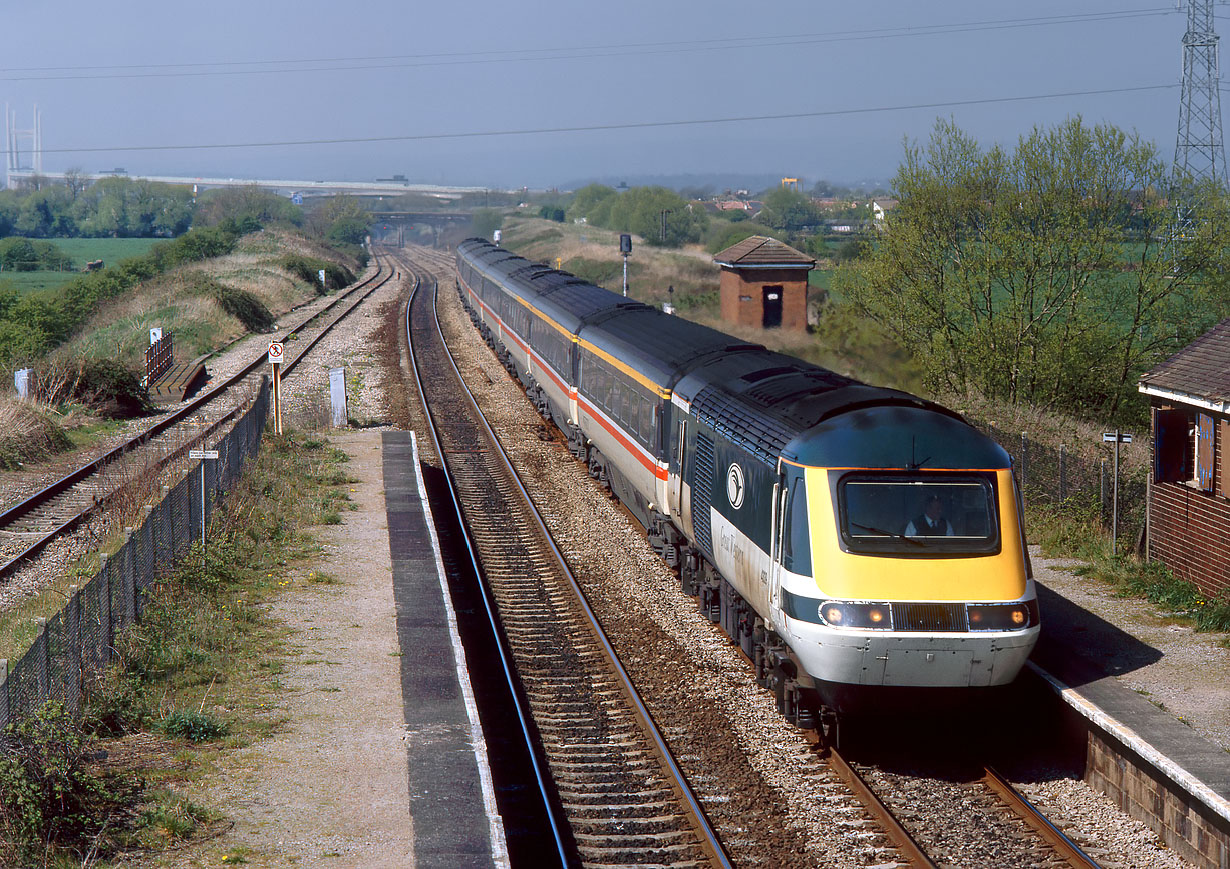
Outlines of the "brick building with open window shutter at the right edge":
[[1230,320],[1140,377],[1153,406],[1149,557],[1230,590]]

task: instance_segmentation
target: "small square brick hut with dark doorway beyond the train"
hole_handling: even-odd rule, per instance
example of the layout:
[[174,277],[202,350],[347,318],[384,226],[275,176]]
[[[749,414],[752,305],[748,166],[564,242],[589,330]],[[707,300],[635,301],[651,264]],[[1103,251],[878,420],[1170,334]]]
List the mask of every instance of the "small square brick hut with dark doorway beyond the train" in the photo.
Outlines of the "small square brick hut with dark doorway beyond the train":
[[807,331],[807,273],[815,261],[776,238],[754,235],[713,257],[722,267],[722,320],[756,328]]

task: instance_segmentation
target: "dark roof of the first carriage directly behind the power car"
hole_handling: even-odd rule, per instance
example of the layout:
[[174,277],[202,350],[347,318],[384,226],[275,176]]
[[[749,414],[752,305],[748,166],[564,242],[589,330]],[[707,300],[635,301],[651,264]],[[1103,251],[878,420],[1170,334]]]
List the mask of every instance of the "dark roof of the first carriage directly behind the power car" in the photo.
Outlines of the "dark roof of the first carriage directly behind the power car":
[[579,338],[664,390],[674,388],[680,377],[708,361],[764,349],[648,306],[621,311],[597,326],[588,326]]

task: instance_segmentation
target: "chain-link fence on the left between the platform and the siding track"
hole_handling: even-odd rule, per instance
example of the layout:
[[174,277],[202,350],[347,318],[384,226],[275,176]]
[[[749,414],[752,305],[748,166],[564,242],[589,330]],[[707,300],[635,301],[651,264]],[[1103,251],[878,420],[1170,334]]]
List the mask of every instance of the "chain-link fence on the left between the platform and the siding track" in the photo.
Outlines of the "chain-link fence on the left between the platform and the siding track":
[[203,540],[219,495],[261,446],[268,407],[266,379],[252,406],[218,442],[218,458],[203,460],[173,488],[164,487],[161,500],[144,508],[141,524],[124,530],[121,547],[100,556],[98,573],[84,588],[74,586],[55,616],[39,619],[21,660],[12,666],[0,660],[0,729],[49,699],[80,712],[84,676],[112,660],[116,638],[141,616],[145,591]]

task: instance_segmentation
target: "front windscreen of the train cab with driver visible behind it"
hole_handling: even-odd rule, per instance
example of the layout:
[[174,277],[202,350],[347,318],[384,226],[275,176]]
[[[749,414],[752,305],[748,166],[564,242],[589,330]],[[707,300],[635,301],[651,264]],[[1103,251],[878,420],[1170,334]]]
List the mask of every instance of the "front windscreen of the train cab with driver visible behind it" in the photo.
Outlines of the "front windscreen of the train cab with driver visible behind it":
[[930,556],[999,551],[990,474],[847,474],[838,483],[841,540],[852,552]]

